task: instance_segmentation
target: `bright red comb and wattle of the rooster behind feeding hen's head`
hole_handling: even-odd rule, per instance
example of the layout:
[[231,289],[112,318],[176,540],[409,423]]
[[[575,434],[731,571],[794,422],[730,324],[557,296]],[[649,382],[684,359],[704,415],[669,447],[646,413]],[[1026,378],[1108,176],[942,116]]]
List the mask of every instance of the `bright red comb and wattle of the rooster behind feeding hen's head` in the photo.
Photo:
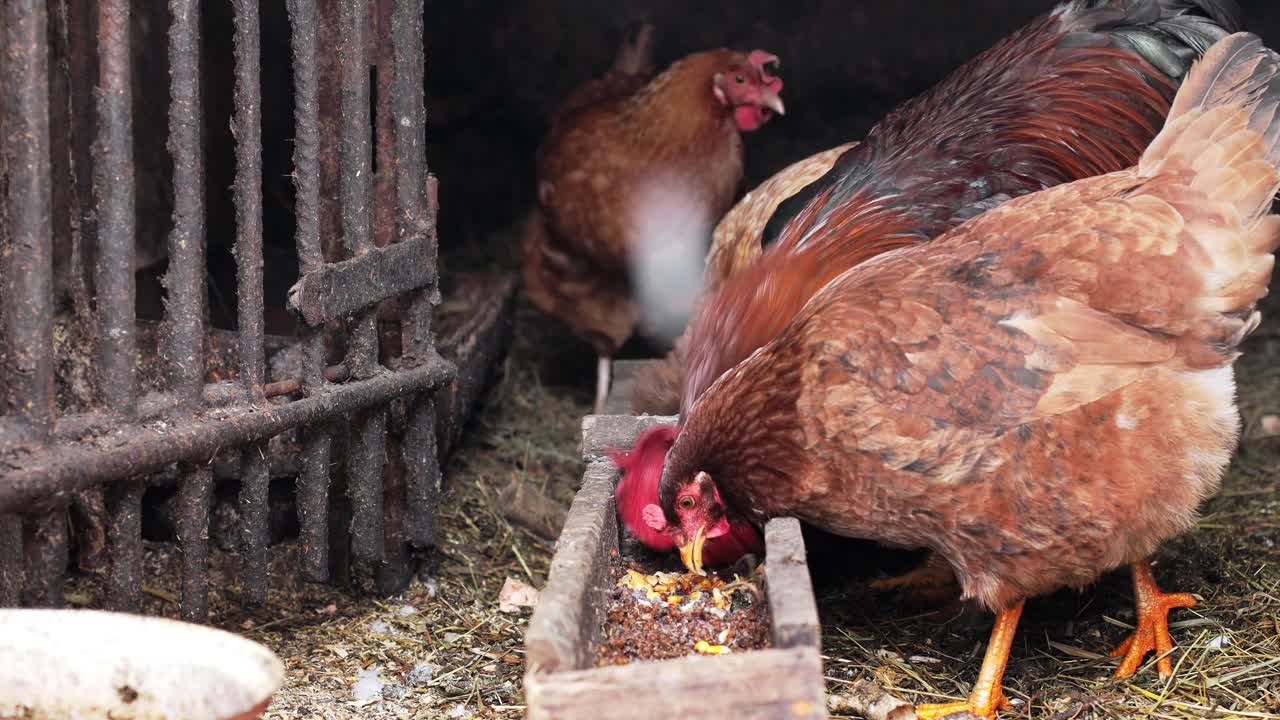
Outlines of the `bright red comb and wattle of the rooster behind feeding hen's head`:
[[[676,550],[676,543],[664,532],[667,520],[657,505],[662,466],[645,466],[635,462],[636,459],[646,457],[655,450],[666,455],[667,450],[671,448],[671,443],[676,439],[676,428],[673,425],[657,425],[657,432],[646,432],[630,452],[614,451],[609,455],[622,470],[616,496],[618,498],[618,515],[623,524],[636,539],[650,550],[671,552]],[[755,525],[742,521],[730,525],[722,518],[707,530],[703,562],[709,566],[730,565],[745,555],[759,556],[763,552],[764,538],[760,537]]]

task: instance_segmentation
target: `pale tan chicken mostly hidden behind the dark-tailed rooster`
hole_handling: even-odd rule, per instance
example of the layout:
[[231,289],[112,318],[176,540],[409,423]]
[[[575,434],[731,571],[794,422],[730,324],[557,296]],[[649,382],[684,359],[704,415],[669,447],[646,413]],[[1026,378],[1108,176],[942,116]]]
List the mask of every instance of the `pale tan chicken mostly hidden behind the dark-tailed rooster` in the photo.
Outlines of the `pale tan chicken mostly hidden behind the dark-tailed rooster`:
[[[739,200],[717,223],[712,234],[703,279],[704,293],[714,292],[721,283],[754,263],[760,256],[764,224],[778,204],[822,177],[840,155],[858,143],[846,142],[792,163]],[[687,345],[686,328],[662,361],[636,373],[631,395],[632,410],[650,415],[673,415],[680,410]]]

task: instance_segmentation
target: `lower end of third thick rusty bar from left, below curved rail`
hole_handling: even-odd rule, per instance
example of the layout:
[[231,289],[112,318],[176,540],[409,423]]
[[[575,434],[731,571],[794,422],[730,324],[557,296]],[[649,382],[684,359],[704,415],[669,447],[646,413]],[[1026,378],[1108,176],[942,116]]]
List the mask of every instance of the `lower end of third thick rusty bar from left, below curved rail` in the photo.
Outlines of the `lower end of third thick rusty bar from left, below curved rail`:
[[209,618],[209,511],[214,471],[207,462],[187,465],[178,484],[178,542],[182,546],[182,619]]

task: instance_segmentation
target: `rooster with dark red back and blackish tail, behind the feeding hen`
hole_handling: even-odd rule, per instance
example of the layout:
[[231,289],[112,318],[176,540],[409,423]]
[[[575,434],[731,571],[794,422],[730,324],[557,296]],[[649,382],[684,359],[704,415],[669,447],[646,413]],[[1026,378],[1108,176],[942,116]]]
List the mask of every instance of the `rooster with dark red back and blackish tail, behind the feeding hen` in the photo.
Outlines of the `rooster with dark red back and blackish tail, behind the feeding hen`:
[[[896,109],[783,201],[763,231],[776,242],[701,304],[673,352],[687,368],[681,413],[844,270],[1010,197],[1135,163],[1192,60],[1238,14],[1222,0],[1068,3]],[[637,393],[655,396],[655,377],[672,383],[672,366]],[[663,464],[664,446],[646,447],[634,468]],[[905,580],[946,578],[879,585]]]

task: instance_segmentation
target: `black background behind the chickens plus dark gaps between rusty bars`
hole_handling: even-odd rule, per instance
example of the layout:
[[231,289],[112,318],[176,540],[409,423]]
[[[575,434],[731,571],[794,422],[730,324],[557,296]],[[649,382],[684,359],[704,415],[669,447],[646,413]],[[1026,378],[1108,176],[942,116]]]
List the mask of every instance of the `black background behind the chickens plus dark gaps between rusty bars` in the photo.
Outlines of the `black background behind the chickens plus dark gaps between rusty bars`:
[[[1280,1],[1243,0],[1245,27],[1280,44]],[[716,46],[782,59],[787,115],[746,135],[746,182],[861,137],[900,101],[928,88],[1050,0],[426,0],[428,163],[440,178],[440,242],[451,268],[513,266],[513,225],[534,200],[534,150],[579,83],[605,70],[625,28],[657,26],[666,67]],[[268,332],[288,334],[293,255],[293,87],[283,1],[264,3],[262,138]],[[172,224],[165,4],[133,3],[140,209],[140,313],[159,318]],[[210,315],[234,327],[236,237],[229,3],[202,4]]]

